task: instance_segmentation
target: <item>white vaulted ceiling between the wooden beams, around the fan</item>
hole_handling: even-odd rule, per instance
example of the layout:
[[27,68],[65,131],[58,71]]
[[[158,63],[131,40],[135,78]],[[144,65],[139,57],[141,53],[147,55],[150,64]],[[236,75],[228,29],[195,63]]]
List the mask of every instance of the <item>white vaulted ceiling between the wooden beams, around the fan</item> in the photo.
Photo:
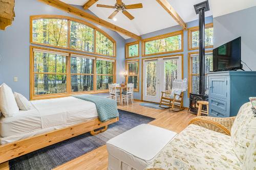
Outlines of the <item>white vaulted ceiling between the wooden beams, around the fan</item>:
[[[61,0],[62,2],[73,5],[84,5],[88,0]],[[204,0],[167,0],[170,5],[177,11],[180,17],[185,21],[193,21],[198,19],[195,13],[194,5],[203,2]],[[115,11],[111,8],[99,8],[97,4],[114,6],[116,0],[98,0],[89,8],[96,16],[106,21],[113,23],[123,29],[126,29],[134,34],[143,35],[153,31],[178,25],[178,23],[170,16],[156,0],[122,0],[125,5],[142,3],[142,9],[130,9],[129,11],[135,19],[130,20],[119,12],[115,19],[108,17]],[[205,13],[205,16],[213,15],[214,17],[239,11],[245,8],[256,6],[255,0],[209,0],[210,11]],[[121,34],[120,34],[121,35]],[[125,39],[130,38],[121,35]]]

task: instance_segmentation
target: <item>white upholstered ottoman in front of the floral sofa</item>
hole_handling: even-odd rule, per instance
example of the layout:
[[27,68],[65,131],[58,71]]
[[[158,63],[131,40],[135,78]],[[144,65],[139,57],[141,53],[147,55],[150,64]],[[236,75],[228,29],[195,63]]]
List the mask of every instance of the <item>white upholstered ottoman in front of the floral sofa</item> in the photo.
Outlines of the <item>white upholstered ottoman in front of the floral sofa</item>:
[[149,124],[139,125],[106,142],[108,170],[142,170],[176,133]]

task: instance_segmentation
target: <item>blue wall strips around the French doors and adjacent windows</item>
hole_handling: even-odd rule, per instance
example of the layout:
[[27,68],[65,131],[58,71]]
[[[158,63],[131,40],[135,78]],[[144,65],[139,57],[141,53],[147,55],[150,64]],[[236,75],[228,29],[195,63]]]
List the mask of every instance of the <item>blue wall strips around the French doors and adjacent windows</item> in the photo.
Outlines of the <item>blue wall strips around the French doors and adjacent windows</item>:
[[[212,16],[208,16],[205,18],[205,23],[211,23],[212,22]],[[187,28],[190,28],[190,27],[196,27],[198,26],[198,23],[199,21],[198,20],[194,20],[194,21],[191,21],[191,22],[188,22],[187,23]],[[179,30],[182,30],[182,28],[178,25],[178,26],[174,26],[174,27],[170,27],[170,28],[166,28],[166,29],[163,29],[163,30],[158,30],[158,31],[155,31],[155,32],[152,32],[152,33],[148,33],[148,34],[144,34],[142,35],[142,39],[145,39],[145,38],[150,38],[150,37],[154,37],[154,36],[158,36],[158,35],[162,35],[162,34],[166,34],[166,33],[171,33],[171,32],[175,32],[175,31],[179,31]],[[184,78],[187,78],[188,77],[188,70],[187,70],[187,67],[188,67],[188,63],[187,63],[187,56],[188,56],[188,53],[190,52],[196,52],[198,50],[194,50],[194,51],[188,51],[188,46],[187,46],[187,31],[183,31],[183,49],[184,51],[183,52],[179,52],[179,53],[169,53],[169,54],[164,54],[164,55],[156,55],[156,56],[149,56],[149,57],[158,57],[158,56],[167,56],[167,55],[176,55],[176,54],[183,54],[183,65],[184,65],[184,68],[183,68],[183,75],[184,75]],[[128,42],[132,42],[134,41],[133,39],[127,39],[125,41],[125,43],[128,43]],[[142,57],[142,52],[141,52],[141,42],[140,42],[140,56],[139,56],[139,59],[140,59],[140,82],[142,81],[142,58],[148,58],[148,57]],[[207,50],[212,50],[212,48],[207,48]],[[129,59],[127,59],[129,60]],[[140,91],[139,92],[135,92],[134,93],[134,98],[135,99],[138,99],[138,100],[141,100],[141,83],[140,83]],[[184,93],[184,106],[185,107],[188,107],[189,106],[189,100],[187,98],[187,91]]]

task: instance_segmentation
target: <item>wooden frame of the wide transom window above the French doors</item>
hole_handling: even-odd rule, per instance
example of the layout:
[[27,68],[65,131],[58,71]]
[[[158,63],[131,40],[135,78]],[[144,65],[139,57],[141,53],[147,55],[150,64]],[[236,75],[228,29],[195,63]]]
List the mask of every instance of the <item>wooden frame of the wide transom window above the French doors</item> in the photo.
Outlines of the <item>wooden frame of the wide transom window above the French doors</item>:
[[[145,54],[145,43],[146,42],[153,41],[153,40],[159,40],[159,39],[163,39],[163,38],[168,38],[168,37],[173,37],[173,36],[177,36],[177,35],[181,35],[181,49],[180,50],[160,52],[160,53],[154,53],[154,54]],[[142,57],[183,52],[183,30],[175,31],[175,32],[167,33],[167,34],[163,34],[163,35],[158,35],[158,36],[151,37],[151,38],[146,38],[146,39],[143,39],[141,42],[142,42]]]

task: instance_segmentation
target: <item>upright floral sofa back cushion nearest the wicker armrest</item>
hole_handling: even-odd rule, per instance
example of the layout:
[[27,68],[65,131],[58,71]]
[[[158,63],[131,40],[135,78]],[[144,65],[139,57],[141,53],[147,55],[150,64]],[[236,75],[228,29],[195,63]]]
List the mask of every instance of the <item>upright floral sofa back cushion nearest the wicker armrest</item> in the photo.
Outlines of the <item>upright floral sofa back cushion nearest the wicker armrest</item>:
[[243,162],[247,148],[256,136],[256,117],[251,110],[251,103],[245,103],[239,110],[230,131],[233,151]]

